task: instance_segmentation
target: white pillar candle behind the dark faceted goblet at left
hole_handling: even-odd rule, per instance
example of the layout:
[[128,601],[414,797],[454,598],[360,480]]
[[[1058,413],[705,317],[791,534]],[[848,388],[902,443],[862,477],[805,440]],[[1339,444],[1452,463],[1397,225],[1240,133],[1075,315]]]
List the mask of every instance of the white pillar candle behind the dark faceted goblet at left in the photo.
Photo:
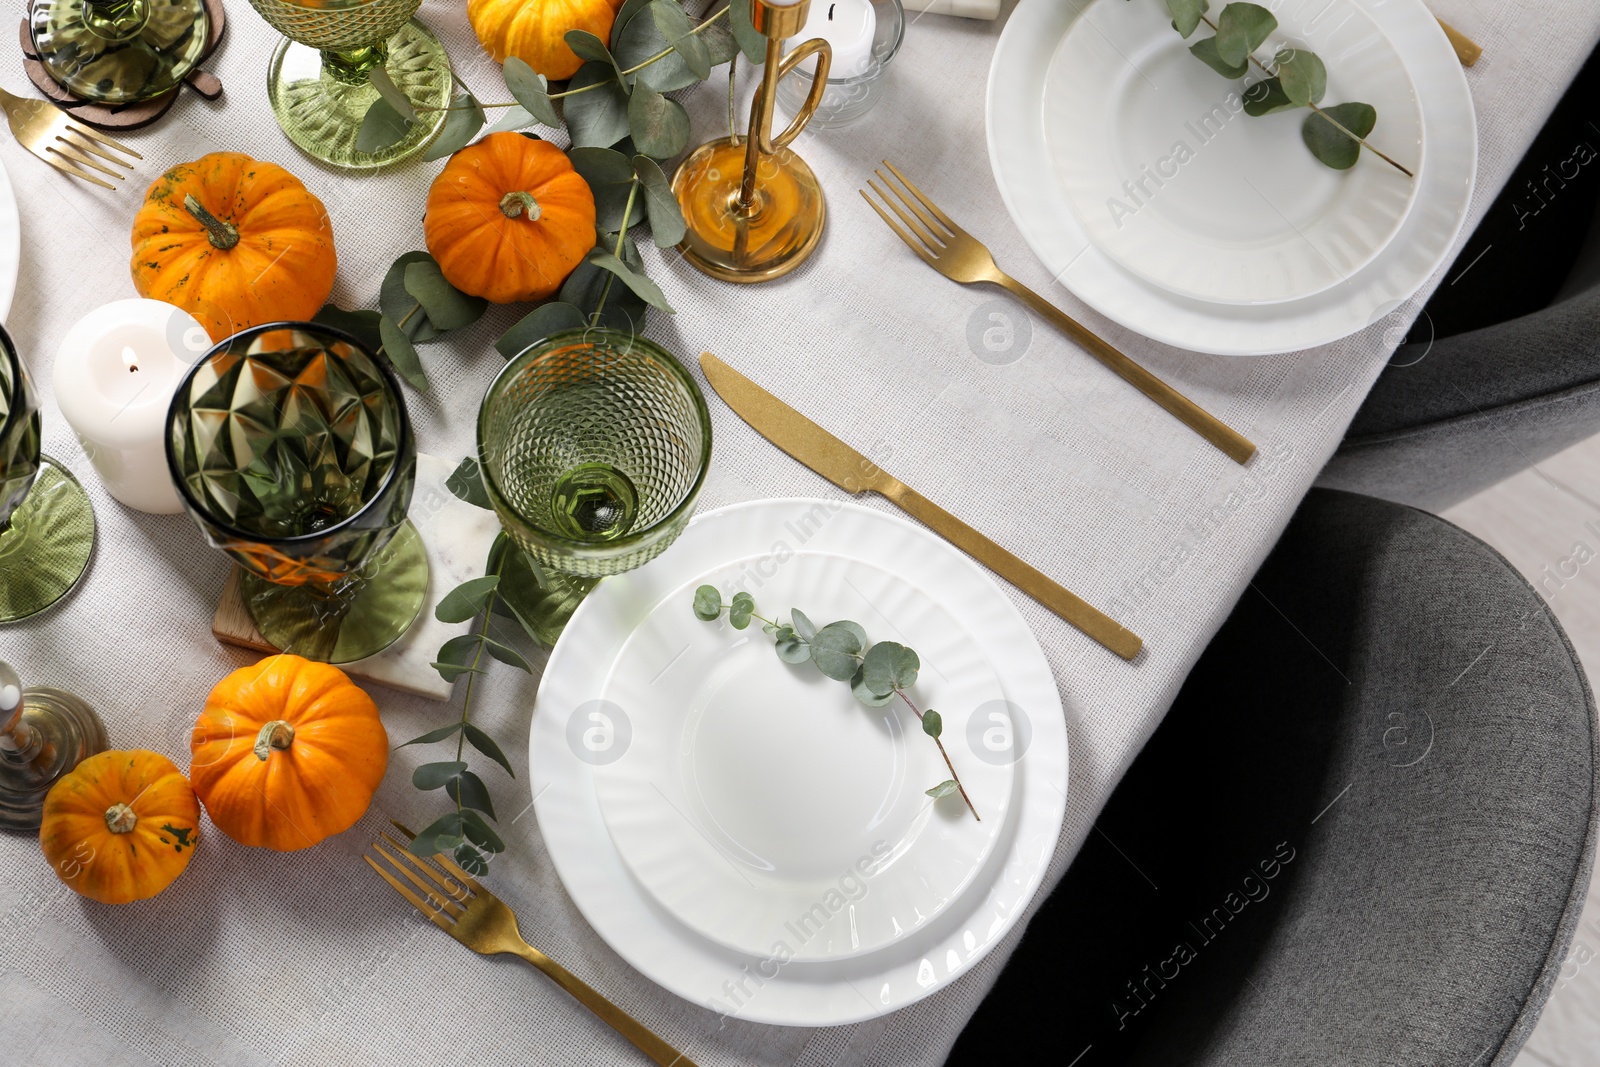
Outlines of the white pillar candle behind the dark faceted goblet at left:
[[106,304],[62,339],[56,405],[106,491],[128,507],[182,510],[166,470],[166,408],[210,347],[194,315],[162,301]]

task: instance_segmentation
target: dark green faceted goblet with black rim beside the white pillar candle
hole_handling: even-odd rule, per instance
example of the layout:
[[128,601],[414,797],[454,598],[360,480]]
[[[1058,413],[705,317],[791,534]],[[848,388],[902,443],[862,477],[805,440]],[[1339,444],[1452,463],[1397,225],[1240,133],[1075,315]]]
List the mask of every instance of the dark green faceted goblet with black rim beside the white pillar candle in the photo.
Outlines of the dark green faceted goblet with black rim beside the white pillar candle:
[[400,382],[355,338],[270,323],[214,346],[173,397],[166,464],[270,645],[342,664],[416,621],[416,438]]

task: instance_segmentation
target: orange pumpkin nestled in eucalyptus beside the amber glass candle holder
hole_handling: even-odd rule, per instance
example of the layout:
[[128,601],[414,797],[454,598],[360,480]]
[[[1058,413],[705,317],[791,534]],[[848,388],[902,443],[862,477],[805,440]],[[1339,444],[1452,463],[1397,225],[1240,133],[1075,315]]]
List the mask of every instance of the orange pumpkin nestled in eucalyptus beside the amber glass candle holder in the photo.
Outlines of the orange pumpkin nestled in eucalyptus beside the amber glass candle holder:
[[595,198],[549,141],[491,133],[434,179],[424,234],[462,293],[496,304],[539,301],[595,246]]

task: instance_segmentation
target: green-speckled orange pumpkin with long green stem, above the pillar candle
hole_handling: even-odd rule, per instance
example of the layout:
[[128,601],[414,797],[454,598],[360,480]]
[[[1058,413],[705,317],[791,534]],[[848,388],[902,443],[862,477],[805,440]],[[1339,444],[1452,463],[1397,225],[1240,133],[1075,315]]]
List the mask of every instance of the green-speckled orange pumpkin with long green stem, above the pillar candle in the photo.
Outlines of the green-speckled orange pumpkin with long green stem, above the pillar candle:
[[200,320],[213,341],[306,320],[328,302],[333,226],[277,163],[211,152],[150,184],[133,216],[133,285]]

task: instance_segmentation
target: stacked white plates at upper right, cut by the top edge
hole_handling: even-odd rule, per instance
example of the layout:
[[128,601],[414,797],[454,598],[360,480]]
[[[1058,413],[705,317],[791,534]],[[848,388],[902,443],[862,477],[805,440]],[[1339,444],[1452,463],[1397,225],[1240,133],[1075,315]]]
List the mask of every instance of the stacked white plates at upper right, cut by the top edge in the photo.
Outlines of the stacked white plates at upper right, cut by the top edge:
[[[1222,355],[1325,344],[1438,269],[1472,198],[1477,130],[1461,64],[1421,0],[1277,0],[1258,50],[1317,53],[1323,107],[1378,112],[1355,166],[1318,163],[1307,110],[1243,110],[1189,54],[1162,0],[1024,0],[989,72],[989,157],[1056,278],[1157,341]],[[1214,3],[1216,19],[1222,3]],[[1410,171],[1406,174],[1405,171]]]

